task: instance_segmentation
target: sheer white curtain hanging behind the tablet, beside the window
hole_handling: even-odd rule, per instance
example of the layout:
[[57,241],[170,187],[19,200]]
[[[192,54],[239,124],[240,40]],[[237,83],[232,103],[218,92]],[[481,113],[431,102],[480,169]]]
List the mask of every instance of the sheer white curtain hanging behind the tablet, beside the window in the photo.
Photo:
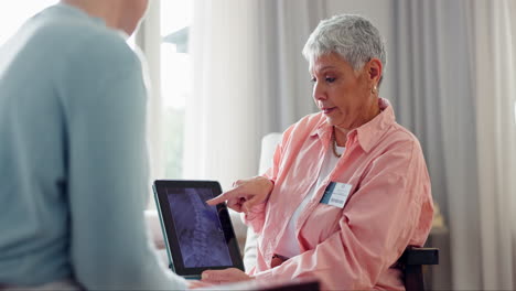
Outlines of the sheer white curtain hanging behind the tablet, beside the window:
[[193,96],[186,100],[185,177],[223,188],[255,174],[259,137],[257,1],[195,1]]

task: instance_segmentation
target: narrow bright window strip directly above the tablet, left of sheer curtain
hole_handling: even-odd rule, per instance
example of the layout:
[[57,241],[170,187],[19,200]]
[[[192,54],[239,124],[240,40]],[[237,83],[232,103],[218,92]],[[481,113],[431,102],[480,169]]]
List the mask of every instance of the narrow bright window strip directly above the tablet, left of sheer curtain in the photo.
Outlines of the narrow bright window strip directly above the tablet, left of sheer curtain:
[[183,176],[183,140],[185,100],[192,89],[192,60],[189,54],[189,30],[193,1],[161,1],[161,95],[163,99],[164,175]]

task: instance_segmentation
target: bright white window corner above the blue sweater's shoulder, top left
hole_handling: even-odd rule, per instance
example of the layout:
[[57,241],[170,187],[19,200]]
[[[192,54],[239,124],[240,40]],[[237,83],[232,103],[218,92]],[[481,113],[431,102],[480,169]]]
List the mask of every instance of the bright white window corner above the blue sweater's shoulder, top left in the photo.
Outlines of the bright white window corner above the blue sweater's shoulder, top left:
[[0,2],[0,45],[11,37],[29,18],[57,0],[24,0]]

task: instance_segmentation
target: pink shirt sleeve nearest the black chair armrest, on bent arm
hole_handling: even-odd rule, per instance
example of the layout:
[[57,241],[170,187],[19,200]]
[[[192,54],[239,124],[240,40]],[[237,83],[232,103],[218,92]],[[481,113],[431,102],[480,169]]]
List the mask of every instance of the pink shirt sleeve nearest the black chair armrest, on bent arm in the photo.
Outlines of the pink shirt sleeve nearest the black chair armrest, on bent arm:
[[[430,182],[416,141],[376,159],[350,197],[341,230],[315,249],[256,274],[258,280],[316,277],[323,289],[369,290],[432,219]],[[422,229],[422,230],[421,230]]]

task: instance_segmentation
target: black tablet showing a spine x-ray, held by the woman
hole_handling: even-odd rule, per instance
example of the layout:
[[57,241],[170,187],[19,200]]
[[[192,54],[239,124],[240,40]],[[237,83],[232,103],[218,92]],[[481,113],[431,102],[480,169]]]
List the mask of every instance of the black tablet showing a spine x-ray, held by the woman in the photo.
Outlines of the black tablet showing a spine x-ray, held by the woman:
[[200,279],[208,269],[244,271],[226,205],[205,203],[222,193],[218,182],[157,180],[152,187],[170,268],[175,273]]

